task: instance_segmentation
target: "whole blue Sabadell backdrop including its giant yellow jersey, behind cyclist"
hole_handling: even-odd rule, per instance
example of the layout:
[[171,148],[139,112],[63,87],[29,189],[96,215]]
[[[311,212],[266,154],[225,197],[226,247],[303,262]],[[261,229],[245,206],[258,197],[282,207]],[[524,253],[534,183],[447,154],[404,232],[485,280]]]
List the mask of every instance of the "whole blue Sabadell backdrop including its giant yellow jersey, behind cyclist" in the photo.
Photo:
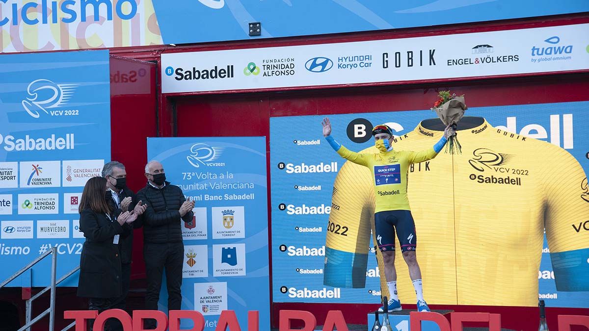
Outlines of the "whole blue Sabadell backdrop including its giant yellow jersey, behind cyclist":
[[[365,153],[376,153],[370,130],[377,124],[392,128],[393,150],[428,150],[441,137],[428,124],[439,123],[431,110],[393,110],[330,115],[332,135]],[[274,301],[378,303],[381,289],[388,295],[372,240],[376,192],[401,193],[378,186],[389,178],[408,185],[429,304],[536,306],[545,299],[589,307],[589,264],[577,263],[589,261],[587,110],[587,101],[469,108],[458,134],[462,154],[442,150],[409,166],[407,176],[399,176],[398,158],[368,169],[326,141],[293,144],[322,137],[322,115],[271,118]],[[285,134],[284,127],[317,130]],[[481,230],[489,224],[492,231]],[[506,251],[518,253],[505,259]],[[414,301],[402,259],[396,270],[401,301]]]

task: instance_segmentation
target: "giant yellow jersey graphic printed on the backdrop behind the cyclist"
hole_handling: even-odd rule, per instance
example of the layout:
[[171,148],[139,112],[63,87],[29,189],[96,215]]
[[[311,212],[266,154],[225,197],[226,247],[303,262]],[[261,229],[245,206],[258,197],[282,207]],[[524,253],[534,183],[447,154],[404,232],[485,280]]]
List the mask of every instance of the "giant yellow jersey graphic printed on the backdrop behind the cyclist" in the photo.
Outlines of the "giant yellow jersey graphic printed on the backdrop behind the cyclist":
[[[580,226],[589,217],[583,168],[554,144],[499,130],[482,119],[479,123],[458,131],[462,154],[441,153],[409,166],[407,195],[419,235],[425,299],[433,304],[536,306],[544,230],[557,289],[589,290],[589,231]],[[420,124],[392,146],[423,150],[442,134]],[[342,166],[332,198],[339,208],[332,209],[329,220],[350,230],[347,237],[328,232],[326,250],[366,253],[370,229],[374,233],[372,180],[365,167]],[[386,295],[382,255],[376,254]],[[337,265],[327,258],[326,272],[330,263]],[[415,293],[405,262],[395,263],[399,297],[412,302]],[[333,270],[341,272],[339,267]]]

